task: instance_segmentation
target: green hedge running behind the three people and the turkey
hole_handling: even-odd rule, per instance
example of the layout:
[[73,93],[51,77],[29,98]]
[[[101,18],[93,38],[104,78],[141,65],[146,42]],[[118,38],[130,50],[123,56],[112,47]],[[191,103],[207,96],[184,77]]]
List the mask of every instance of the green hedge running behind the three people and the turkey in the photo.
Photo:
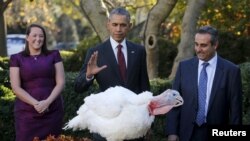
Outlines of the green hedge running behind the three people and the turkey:
[[[8,63],[7,60],[0,59],[0,137],[3,141],[14,140],[14,117],[13,117],[13,105],[14,98],[8,79]],[[243,83],[243,123],[250,124],[250,63],[244,63],[240,65],[242,72],[242,83]],[[73,90],[73,83],[77,73],[67,72],[66,73],[66,86],[62,95],[64,97],[65,105],[65,116],[64,123],[68,122],[74,116],[76,116],[76,111],[83,104],[83,99],[85,96],[97,91],[97,85],[88,92],[77,94]],[[171,82],[166,79],[155,79],[150,81],[151,91],[154,94],[159,94],[165,89],[171,87]],[[153,123],[151,132],[149,136],[153,141],[164,140],[164,129],[165,129],[165,116],[157,116],[155,122]],[[63,134],[70,135],[74,137],[89,137],[89,132],[77,131],[73,132],[71,130],[63,131]]]

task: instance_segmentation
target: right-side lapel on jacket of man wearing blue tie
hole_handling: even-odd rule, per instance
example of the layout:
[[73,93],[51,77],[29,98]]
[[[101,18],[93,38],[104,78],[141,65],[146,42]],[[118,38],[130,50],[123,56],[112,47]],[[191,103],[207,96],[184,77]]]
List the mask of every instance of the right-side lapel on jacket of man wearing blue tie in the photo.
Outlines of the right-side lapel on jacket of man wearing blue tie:
[[216,92],[219,89],[218,87],[220,86],[220,83],[221,83],[220,81],[222,80],[222,77],[223,77],[223,67],[224,66],[223,66],[222,59],[218,56],[217,66],[216,66],[212,90],[211,90],[211,95],[210,95],[210,99],[209,99],[208,112],[213,104]]

